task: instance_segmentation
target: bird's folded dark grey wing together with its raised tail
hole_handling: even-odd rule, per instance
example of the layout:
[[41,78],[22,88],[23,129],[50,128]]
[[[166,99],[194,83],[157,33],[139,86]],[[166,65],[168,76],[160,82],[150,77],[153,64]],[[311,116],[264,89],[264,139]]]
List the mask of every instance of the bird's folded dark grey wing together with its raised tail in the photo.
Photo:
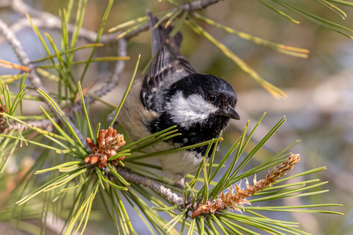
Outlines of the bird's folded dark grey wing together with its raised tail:
[[158,22],[150,11],[146,11],[149,27],[152,35],[152,55],[155,56],[145,75],[140,91],[140,99],[146,109],[159,111],[156,99],[160,97],[164,89],[184,76],[196,73],[196,70],[180,54],[180,45],[183,37],[178,32],[174,37],[169,36],[172,27],[164,28],[163,25],[153,27]]

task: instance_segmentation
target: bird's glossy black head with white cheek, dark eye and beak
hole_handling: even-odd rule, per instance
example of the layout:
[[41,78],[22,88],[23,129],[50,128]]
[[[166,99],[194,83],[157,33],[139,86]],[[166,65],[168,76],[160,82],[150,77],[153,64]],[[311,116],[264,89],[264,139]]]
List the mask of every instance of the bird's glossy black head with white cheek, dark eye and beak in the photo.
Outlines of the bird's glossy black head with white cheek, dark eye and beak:
[[[196,124],[219,124],[240,119],[234,110],[237,95],[231,85],[213,75],[191,74],[175,82],[166,93],[166,112],[173,122],[189,129]],[[210,123],[212,122],[212,123]]]

